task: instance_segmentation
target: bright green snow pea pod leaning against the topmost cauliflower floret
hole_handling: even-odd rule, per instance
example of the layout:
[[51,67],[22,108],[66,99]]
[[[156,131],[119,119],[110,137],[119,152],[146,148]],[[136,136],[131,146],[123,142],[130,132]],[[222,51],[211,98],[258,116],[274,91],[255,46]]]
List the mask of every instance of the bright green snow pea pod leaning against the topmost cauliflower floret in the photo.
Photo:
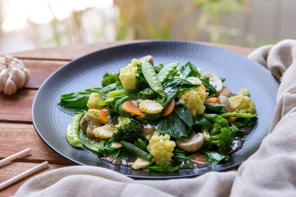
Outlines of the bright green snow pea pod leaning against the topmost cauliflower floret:
[[142,63],[142,72],[151,89],[163,96],[163,87],[157,77],[157,74],[155,73],[153,66],[148,62]]

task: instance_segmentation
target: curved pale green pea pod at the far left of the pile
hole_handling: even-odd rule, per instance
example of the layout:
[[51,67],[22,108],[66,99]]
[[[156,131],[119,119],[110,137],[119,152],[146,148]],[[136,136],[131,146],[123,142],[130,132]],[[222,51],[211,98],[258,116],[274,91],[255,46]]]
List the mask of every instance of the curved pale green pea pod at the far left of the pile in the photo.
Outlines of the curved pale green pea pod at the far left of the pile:
[[82,117],[83,114],[76,114],[73,116],[66,131],[67,141],[71,146],[77,148],[83,148],[83,144],[79,137],[80,120]]

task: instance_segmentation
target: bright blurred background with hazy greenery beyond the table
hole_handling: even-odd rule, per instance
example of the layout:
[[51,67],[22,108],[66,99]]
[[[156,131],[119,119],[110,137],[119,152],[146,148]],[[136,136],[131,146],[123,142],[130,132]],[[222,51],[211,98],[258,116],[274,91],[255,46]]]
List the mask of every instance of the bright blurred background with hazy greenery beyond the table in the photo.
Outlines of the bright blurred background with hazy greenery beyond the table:
[[134,39],[258,47],[296,39],[295,7],[296,0],[0,0],[0,54]]

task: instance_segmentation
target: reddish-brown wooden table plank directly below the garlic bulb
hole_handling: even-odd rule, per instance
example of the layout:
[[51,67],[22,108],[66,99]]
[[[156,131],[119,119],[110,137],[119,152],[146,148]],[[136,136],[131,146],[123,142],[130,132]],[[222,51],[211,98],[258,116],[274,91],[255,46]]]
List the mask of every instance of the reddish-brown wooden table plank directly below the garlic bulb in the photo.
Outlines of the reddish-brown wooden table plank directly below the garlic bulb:
[[0,93],[0,122],[32,123],[31,109],[36,90],[19,90],[15,95]]

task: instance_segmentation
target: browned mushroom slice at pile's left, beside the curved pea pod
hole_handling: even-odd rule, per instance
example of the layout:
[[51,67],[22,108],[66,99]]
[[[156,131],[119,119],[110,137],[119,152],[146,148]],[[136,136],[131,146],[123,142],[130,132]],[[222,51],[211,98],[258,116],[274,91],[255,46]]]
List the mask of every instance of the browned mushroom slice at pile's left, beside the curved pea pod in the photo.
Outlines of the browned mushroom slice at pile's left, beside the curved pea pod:
[[102,127],[103,125],[99,123],[94,116],[86,114],[82,117],[80,121],[80,129],[86,132],[88,137],[95,137],[93,130],[97,127]]

